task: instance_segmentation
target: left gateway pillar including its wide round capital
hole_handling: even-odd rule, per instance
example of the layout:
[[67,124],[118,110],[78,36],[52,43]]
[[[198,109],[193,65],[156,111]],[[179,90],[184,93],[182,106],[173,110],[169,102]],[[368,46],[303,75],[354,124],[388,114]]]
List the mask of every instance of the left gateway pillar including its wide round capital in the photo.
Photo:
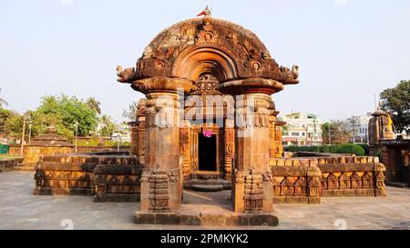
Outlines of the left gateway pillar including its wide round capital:
[[189,80],[152,77],[134,83],[147,95],[145,169],[141,177],[141,211],[174,212],[182,199],[179,127],[182,110],[179,87],[187,92]]

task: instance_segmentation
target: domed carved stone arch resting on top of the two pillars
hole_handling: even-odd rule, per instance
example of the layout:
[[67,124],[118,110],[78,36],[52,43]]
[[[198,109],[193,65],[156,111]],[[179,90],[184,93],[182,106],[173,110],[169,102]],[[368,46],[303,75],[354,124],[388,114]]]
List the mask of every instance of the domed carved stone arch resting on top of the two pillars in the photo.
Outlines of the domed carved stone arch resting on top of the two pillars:
[[299,83],[298,66],[292,70],[280,66],[251,31],[210,16],[186,20],[159,33],[136,68],[118,66],[118,81],[130,84],[156,76],[193,82],[202,74],[213,74],[220,83],[242,78]]

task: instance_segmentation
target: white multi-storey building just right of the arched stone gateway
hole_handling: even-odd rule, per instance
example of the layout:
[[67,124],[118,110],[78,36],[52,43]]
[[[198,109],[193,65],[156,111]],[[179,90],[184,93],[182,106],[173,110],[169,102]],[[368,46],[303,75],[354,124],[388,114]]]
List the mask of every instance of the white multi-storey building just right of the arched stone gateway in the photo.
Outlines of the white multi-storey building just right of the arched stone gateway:
[[292,113],[282,117],[286,122],[282,141],[283,144],[322,145],[323,120],[315,114]]

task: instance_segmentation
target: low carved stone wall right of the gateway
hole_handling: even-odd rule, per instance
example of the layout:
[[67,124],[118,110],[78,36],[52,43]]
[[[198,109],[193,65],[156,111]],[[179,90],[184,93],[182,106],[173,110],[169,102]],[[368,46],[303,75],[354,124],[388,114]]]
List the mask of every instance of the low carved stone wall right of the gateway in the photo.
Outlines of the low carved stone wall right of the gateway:
[[321,196],[385,195],[385,168],[373,157],[335,155],[275,158],[272,162],[273,203],[320,203]]

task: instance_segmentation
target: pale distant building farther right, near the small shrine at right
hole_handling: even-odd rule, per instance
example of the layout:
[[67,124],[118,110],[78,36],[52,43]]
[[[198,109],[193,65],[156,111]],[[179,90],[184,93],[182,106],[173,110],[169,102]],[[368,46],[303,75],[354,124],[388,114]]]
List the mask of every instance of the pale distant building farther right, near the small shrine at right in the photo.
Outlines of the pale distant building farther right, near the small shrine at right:
[[372,118],[371,113],[365,116],[352,116],[344,121],[347,131],[351,137],[350,142],[367,143],[369,140],[369,121]]

